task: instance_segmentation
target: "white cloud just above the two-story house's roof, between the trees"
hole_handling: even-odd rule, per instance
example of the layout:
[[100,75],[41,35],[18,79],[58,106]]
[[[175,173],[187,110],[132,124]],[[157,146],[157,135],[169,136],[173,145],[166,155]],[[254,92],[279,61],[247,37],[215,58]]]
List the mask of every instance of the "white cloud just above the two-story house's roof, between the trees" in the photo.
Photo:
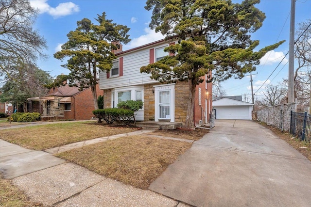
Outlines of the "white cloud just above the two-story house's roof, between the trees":
[[127,50],[131,48],[136,48],[148,43],[155,42],[157,40],[164,39],[164,36],[160,32],[155,33],[155,31],[151,30],[150,28],[145,28],[144,32],[146,34],[143,34],[138,38],[132,39],[131,42],[129,42],[129,44],[123,46],[123,49]]

